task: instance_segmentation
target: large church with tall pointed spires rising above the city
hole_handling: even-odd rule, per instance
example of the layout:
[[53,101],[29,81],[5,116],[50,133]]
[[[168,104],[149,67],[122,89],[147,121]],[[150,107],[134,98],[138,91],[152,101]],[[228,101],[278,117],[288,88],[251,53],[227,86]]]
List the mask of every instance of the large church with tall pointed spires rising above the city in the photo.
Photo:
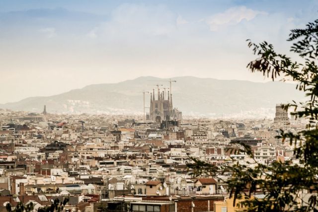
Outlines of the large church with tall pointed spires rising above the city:
[[153,120],[161,123],[163,120],[181,120],[182,112],[172,106],[172,94],[168,91],[168,97],[165,99],[164,91],[160,92],[158,88],[158,99],[155,99],[155,89],[150,97],[150,110],[147,114],[147,120]]

